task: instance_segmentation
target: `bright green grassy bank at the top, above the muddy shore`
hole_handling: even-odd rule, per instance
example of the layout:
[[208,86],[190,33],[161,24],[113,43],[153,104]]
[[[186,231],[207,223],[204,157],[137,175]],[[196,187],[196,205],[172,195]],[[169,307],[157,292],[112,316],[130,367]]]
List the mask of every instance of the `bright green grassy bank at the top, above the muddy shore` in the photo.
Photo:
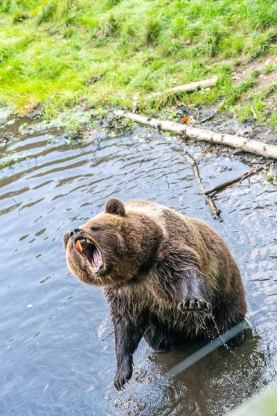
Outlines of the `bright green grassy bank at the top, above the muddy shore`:
[[146,101],[149,92],[217,75],[216,88],[180,102],[222,101],[240,118],[252,117],[252,106],[263,121],[275,87],[256,92],[259,71],[241,83],[232,71],[275,54],[276,34],[275,0],[0,0],[0,101],[52,114],[82,99],[128,107],[138,92],[150,111],[165,102]]

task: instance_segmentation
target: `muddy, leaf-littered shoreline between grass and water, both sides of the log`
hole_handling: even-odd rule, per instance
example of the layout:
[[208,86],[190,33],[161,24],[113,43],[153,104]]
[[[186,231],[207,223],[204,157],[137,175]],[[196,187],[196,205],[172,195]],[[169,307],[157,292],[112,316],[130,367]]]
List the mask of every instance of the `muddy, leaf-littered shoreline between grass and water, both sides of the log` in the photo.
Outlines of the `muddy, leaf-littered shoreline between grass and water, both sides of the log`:
[[[13,155],[6,152],[6,147],[13,141],[20,141],[23,137],[28,138],[38,133],[47,132],[49,137],[47,145],[57,138],[65,139],[68,144],[78,144],[84,141],[93,140],[100,134],[104,135],[130,135],[132,137],[141,137],[148,139],[153,135],[159,137],[170,137],[173,133],[159,132],[154,128],[145,125],[139,125],[127,119],[120,119],[114,116],[115,108],[93,107],[82,103],[77,105],[73,110],[62,111],[55,118],[45,119],[42,109],[37,108],[27,116],[19,116],[13,114],[6,107],[0,107],[0,146],[2,149],[2,159],[0,168],[12,166],[22,159],[28,159],[31,155],[23,156]],[[217,106],[199,107],[197,109],[190,107],[170,107],[156,114],[157,118],[182,122],[184,116],[191,116],[195,119],[195,127],[206,128],[215,132],[224,132],[231,135],[239,135],[257,141],[263,141],[267,144],[277,145],[276,132],[265,125],[258,125],[253,120],[240,123],[237,118],[230,118],[228,114],[217,112]],[[176,135],[174,135],[176,137]],[[193,139],[179,137],[186,144],[195,144]],[[199,161],[211,155],[235,157],[250,163],[251,167],[256,168],[260,164],[265,163],[265,157],[253,155],[251,153],[240,153],[240,151],[228,146],[217,146],[214,144],[200,144],[202,155],[197,155]],[[269,182],[276,184],[277,163],[273,160],[271,170],[269,171]],[[263,175],[267,175],[267,171],[262,171]],[[242,172],[242,175],[244,173]]]

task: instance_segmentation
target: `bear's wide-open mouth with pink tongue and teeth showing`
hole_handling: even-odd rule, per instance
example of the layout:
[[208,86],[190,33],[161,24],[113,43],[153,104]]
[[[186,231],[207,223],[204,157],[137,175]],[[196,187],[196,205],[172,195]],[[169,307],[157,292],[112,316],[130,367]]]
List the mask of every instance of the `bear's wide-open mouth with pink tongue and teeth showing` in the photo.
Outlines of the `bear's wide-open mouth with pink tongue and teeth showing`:
[[75,249],[84,257],[89,266],[89,270],[94,274],[103,268],[102,253],[90,239],[78,239],[75,243]]

